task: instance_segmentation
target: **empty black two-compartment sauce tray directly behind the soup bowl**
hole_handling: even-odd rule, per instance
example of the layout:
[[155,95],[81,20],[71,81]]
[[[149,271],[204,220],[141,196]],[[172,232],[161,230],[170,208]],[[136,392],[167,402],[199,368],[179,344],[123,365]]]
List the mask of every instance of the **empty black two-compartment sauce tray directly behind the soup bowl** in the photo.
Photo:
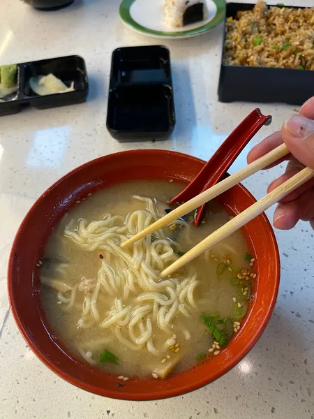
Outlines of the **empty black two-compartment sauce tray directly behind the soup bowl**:
[[174,129],[167,47],[124,47],[112,53],[107,129],[119,141],[165,139]]

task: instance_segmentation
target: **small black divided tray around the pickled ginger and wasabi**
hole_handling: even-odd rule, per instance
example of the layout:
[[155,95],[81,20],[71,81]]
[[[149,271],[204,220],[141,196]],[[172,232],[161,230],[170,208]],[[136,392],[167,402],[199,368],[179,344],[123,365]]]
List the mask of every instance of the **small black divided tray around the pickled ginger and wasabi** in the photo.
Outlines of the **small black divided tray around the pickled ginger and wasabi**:
[[[29,79],[36,75],[54,74],[64,84],[74,82],[74,91],[38,96],[29,86]],[[8,96],[6,102],[0,102],[0,115],[10,115],[29,104],[37,109],[54,108],[63,105],[82,103],[87,98],[89,83],[84,59],[77,55],[43,59],[17,64],[17,91]]]

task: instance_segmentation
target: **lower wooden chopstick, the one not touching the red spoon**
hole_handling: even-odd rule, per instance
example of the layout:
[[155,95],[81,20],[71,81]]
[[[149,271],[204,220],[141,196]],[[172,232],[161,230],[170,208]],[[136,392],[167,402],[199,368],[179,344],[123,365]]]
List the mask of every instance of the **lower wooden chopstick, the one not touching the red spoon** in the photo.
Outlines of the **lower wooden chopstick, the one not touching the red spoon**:
[[311,168],[304,168],[301,172],[297,173],[286,182],[278,186],[274,191],[271,191],[267,196],[257,201],[257,203],[248,207],[247,210],[241,212],[241,214],[235,216],[231,221],[228,221],[218,230],[214,231],[211,235],[206,237],[202,242],[197,244],[193,249],[190,249],[184,256],[177,259],[172,265],[167,267],[163,272],[161,272],[160,277],[168,277],[173,272],[177,271],[180,267],[186,265],[191,260],[200,256],[201,253],[213,247],[220,240],[225,239],[225,237],[234,233],[234,231],[239,230],[243,227],[244,224],[248,223],[254,219],[257,215],[262,214],[267,208],[277,203],[279,200],[283,199],[289,193],[297,189],[299,186],[307,182],[309,179],[314,177],[314,170]]

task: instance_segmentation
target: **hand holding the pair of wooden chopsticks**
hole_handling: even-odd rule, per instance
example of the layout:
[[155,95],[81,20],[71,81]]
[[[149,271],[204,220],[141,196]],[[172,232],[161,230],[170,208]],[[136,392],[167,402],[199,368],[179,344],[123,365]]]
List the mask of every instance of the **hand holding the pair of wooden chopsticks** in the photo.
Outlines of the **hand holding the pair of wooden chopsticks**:
[[[314,96],[304,103],[299,114],[291,115],[285,120],[281,131],[269,135],[251,149],[247,157],[248,163],[259,159],[283,142],[290,150],[290,154],[268,168],[284,160],[289,162],[285,173],[269,184],[267,192],[273,191],[305,166],[314,169]],[[288,230],[300,219],[310,221],[314,229],[314,179],[280,201],[274,213],[273,223],[276,228]]]

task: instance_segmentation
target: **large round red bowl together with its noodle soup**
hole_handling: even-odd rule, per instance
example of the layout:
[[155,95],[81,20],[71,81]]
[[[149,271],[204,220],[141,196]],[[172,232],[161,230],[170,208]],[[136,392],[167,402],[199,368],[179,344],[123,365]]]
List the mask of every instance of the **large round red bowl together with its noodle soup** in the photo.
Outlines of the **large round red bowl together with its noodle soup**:
[[[164,267],[255,202],[241,184],[129,249],[172,210],[204,161],[164,150],[103,156],[33,205],[8,265],[24,339],[53,372],[106,397],[162,399],[200,388],[251,350],[274,309],[280,261],[264,214],[174,277]],[[27,245],[26,245],[27,244]]]

